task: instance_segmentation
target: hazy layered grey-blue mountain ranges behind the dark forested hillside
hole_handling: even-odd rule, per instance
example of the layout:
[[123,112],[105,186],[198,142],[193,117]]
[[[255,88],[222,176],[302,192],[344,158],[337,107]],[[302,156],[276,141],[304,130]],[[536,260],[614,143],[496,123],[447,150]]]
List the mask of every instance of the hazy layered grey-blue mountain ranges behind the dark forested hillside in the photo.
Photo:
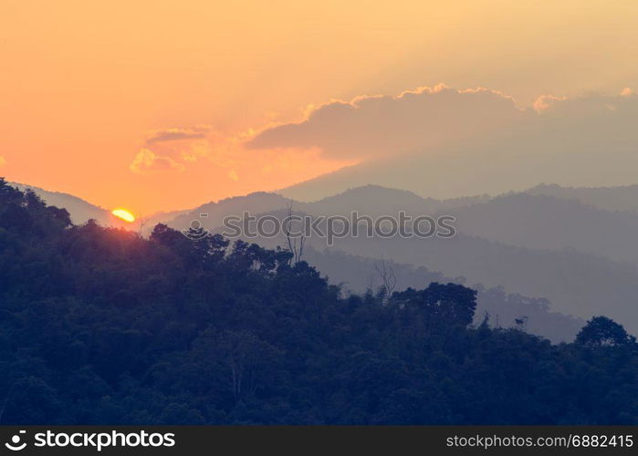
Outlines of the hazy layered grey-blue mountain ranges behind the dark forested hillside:
[[[23,186],[24,187],[24,186]],[[66,207],[74,223],[94,218],[109,224],[109,212],[72,195],[34,189],[50,204]],[[305,239],[302,260],[316,265],[344,290],[382,285],[380,264],[392,269],[396,289],[453,281],[479,290],[479,310],[492,324],[528,326],[536,334],[569,339],[581,319],[606,315],[638,333],[638,186],[566,188],[539,185],[526,192],[439,200],[376,185],[350,189],[315,202],[256,192],[207,202],[192,210],[161,213],[144,221],[187,230],[196,225],[223,233],[225,217],[291,211],[310,217],[351,212],[372,218],[441,215],[455,217],[451,238],[347,235],[327,245]],[[283,233],[246,241],[288,246]],[[530,297],[526,297],[530,296]],[[480,312],[477,313],[479,316]],[[518,323],[516,323],[518,322]]]

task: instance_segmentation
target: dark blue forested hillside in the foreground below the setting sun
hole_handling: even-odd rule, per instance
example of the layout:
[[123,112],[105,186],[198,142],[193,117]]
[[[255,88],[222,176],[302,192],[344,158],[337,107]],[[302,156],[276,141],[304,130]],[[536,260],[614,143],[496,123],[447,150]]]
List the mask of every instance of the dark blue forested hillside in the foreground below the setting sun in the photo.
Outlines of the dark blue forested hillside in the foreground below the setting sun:
[[346,295],[285,250],[75,226],[0,180],[0,424],[638,423],[638,348],[473,326],[476,292]]

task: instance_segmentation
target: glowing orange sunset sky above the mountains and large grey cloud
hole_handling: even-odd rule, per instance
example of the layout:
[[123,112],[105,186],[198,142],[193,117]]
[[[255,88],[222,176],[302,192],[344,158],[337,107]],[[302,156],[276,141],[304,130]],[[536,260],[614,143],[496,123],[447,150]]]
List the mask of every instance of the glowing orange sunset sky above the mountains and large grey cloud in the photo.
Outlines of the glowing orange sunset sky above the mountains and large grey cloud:
[[609,0],[0,0],[0,176],[136,214],[276,190],[367,160],[254,140],[334,99],[630,96],[637,23]]

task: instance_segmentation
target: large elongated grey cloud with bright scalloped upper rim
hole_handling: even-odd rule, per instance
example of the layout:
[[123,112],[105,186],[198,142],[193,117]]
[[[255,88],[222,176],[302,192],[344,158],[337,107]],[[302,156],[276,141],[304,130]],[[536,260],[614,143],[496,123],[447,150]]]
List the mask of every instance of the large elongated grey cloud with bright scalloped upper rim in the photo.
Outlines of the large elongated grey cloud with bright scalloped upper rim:
[[257,134],[253,149],[319,147],[329,158],[374,158],[437,150],[517,125],[528,118],[496,90],[456,90],[439,85],[397,96],[331,101],[308,118]]

